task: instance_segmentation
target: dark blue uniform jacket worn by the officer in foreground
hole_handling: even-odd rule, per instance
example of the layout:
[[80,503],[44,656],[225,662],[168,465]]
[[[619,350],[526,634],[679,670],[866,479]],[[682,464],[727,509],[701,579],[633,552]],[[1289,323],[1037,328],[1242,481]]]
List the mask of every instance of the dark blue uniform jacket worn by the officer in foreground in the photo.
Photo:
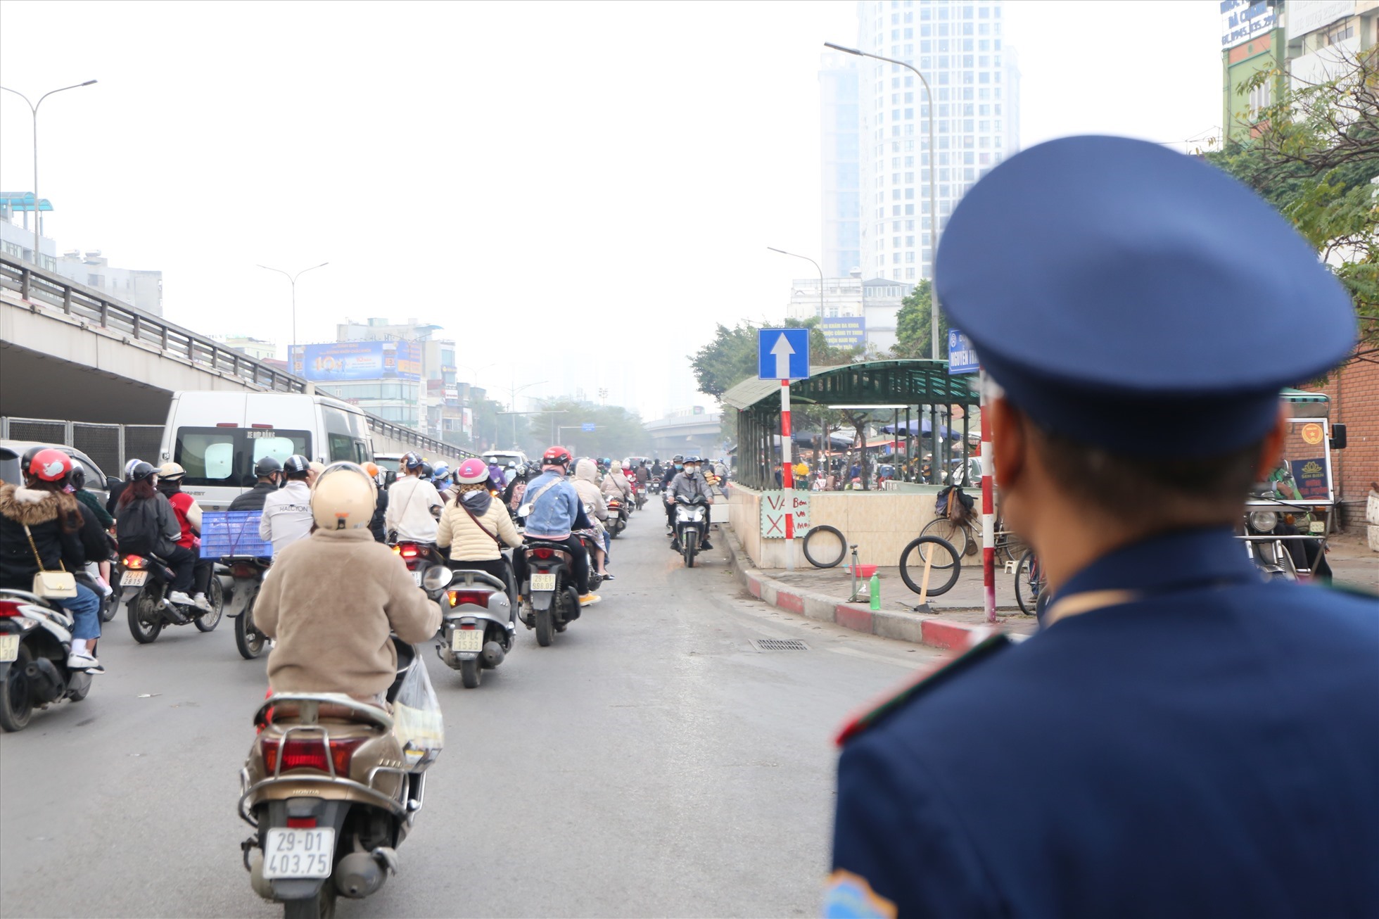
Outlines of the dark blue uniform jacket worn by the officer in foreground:
[[1109,589],[847,742],[834,868],[900,916],[1379,915],[1379,602],[1227,530],[1059,595]]

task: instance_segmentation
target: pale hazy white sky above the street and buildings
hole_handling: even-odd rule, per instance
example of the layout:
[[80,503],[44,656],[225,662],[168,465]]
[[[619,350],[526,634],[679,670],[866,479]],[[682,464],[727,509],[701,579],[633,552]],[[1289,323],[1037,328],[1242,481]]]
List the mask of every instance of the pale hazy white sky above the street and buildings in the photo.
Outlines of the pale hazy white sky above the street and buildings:
[[[1220,121],[1214,0],[1009,0],[1025,146],[1175,142]],[[647,417],[690,404],[716,322],[779,319],[818,257],[814,3],[30,3],[0,83],[36,99],[59,251],[161,269],[205,334],[430,319],[496,389],[552,379]],[[29,110],[0,94],[0,186],[29,190]],[[803,270],[801,270],[803,266]],[[462,377],[473,374],[461,370]],[[502,396],[502,393],[495,392]],[[703,402],[703,399],[696,399]]]

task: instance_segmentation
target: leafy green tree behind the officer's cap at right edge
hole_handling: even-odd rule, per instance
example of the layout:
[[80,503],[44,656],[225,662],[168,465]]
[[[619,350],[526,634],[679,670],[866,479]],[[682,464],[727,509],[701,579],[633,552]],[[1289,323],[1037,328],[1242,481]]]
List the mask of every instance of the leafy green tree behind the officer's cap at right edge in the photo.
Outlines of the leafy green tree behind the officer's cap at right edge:
[[[1262,70],[1241,94],[1278,79]],[[1207,161],[1255,189],[1287,217],[1346,286],[1361,348],[1379,346],[1379,51],[1338,52],[1316,83],[1251,112],[1241,131]]]

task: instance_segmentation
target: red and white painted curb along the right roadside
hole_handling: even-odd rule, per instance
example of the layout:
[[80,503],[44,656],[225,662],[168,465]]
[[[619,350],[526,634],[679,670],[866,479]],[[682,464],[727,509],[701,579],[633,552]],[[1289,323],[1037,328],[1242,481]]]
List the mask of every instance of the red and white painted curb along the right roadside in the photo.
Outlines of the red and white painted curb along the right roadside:
[[738,534],[732,531],[732,527],[724,524],[720,530],[728,546],[732,575],[747,589],[747,593],[778,610],[819,622],[833,622],[854,632],[866,632],[953,651],[967,650],[992,633],[992,629],[985,625],[920,617],[899,610],[873,610],[862,603],[838,603],[837,597],[789,586],[768,577],[752,563],[747,553],[742,551],[742,544],[738,542]]

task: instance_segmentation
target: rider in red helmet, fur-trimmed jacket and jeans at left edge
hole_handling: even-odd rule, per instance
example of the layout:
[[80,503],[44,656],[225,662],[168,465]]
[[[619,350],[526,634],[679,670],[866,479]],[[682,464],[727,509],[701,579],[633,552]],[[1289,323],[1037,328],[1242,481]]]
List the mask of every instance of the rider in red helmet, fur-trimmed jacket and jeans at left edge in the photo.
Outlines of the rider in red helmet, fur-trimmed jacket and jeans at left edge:
[[[99,542],[94,538],[99,534],[95,516],[84,515],[81,504],[66,493],[70,472],[72,457],[44,447],[29,462],[21,462],[23,484],[0,486],[0,588],[33,591],[33,575],[40,569],[76,573],[88,557],[92,557],[92,552],[108,552],[103,538]],[[103,673],[95,657],[101,600],[87,585],[76,586],[76,596],[51,599],[73,618],[68,668]]]

